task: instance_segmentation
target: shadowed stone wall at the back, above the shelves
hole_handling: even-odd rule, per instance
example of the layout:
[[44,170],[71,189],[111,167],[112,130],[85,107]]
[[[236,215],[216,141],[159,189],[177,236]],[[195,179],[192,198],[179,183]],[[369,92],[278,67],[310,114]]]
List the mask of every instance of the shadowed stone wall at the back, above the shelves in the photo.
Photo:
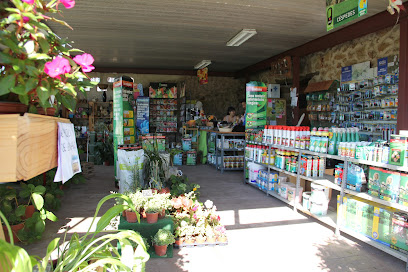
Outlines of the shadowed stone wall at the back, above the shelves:
[[[227,108],[233,106],[238,113],[243,110],[240,107],[240,99],[245,98],[245,81],[243,79],[234,79],[231,77],[209,77],[208,84],[200,85],[196,76],[175,76],[175,75],[140,75],[124,74],[134,79],[135,83],[142,83],[146,92],[150,82],[163,83],[186,83],[187,99],[199,100],[203,103],[204,110],[207,114],[214,114],[218,118],[223,118]],[[90,77],[101,78],[101,83],[107,83],[108,77],[118,77],[114,73],[90,73]],[[93,88],[87,93],[88,100],[94,98],[102,100],[102,93]],[[112,99],[112,89],[108,89],[107,99]]]

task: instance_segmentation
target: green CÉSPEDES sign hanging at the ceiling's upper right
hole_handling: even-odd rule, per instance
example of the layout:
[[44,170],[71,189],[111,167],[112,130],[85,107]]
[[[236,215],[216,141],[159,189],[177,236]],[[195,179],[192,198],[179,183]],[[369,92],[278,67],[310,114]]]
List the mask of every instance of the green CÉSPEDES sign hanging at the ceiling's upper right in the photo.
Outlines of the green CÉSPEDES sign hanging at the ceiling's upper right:
[[342,0],[338,4],[332,4],[338,1],[326,0],[327,31],[367,14],[367,1],[368,0]]

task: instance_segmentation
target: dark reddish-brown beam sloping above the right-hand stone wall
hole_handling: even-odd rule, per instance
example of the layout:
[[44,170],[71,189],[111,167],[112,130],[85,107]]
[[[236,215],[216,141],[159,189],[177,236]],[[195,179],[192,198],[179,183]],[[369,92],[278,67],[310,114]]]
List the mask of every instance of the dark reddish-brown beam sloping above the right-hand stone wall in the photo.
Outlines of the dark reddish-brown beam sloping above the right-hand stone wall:
[[[408,3],[404,4],[408,10]],[[400,20],[407,17],[407,12],[401,11]],[[302,44],[298,47],[292,48],[278,55],[270,57],[261,62],[250,65],[240,71],[236,72],[236,77],[244,77],[270,68],[271,63],[285,56],[303,57],[311,53],[319,52],[335,45],[342,44],[347,41],[365,36],[367,34],[377,32],[381,29],[391,27],[396,24],[398,15],[390,15],[388,11],[383,11],[368,17],[367,19],[358,21],[347,27],[341,28],[337,31],[331,32],[320,38]],[[400,21],[398,21],[399,23]]]

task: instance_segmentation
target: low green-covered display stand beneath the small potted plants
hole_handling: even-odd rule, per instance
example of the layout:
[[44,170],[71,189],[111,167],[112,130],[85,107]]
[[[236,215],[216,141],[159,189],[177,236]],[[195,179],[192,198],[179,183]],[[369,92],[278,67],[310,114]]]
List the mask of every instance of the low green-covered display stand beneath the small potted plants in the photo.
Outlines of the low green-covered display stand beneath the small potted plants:
[[147,223],[146,219],[143,219],[143,218],[140,218],[140,223],[129,223],[126,221],[125,217],[120,216],[120,222],[119,222],[118,229],[134,230],[140,233],[140,235],[142,235],[143,238],[146,238],[150,245],[150,249],[148,253],[150,254],[151,258],[172,258],[173,257],[173,245],[169,245],[167,247],[167,253],[164,256],[157,256],[154,253],[154,246],[152,245],[152,238],[159,229],[166,229],[171,232],[174,232],[174,223],[173,223],[173,219],[171,219],[171,216],[166,216],[163,219],[159,219],[157,223],[154,223],[154,224]]

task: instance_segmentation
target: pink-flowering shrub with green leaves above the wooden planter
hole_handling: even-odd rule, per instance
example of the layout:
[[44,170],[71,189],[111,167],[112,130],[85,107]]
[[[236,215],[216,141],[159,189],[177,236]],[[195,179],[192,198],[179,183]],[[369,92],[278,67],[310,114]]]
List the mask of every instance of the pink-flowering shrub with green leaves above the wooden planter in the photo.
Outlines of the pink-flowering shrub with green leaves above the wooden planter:
[[53,21],[71,28],[53,17],[62,12],[59,4],[71,9],[75,0],[1,1],[2,99],[13,93],[26,105],[48,108],[62,103],[73,110],[77,92],[96,84],[86,75],[94,69],[93,57],[72,48],[45,24]]

